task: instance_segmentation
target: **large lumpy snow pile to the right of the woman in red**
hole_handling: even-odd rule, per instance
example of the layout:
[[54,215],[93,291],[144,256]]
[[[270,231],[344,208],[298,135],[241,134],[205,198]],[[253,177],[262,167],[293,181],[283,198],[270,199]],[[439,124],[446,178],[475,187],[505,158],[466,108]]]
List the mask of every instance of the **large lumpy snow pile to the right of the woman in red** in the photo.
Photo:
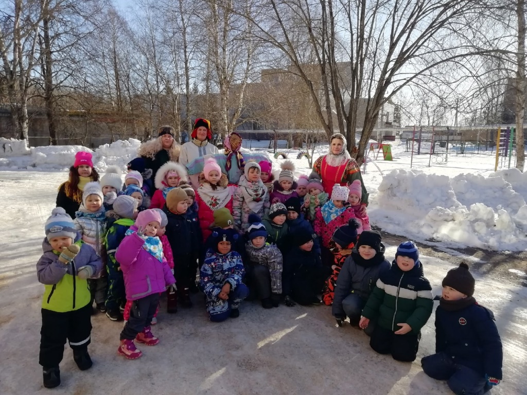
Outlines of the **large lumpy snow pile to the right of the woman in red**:
[[503,177],[394,170],[368,210],[384,231],[492,250],[527,248],[527,205]]

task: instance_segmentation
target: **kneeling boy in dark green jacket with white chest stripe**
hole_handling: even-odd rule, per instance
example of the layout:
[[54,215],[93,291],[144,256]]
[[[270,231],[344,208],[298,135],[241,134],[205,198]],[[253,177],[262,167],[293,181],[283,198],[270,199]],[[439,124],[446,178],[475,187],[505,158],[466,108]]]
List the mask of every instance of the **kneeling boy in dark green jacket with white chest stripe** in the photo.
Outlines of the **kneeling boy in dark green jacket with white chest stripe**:
[[[337,285],[338,281],[340,276]],[[359,325],[367,329],[370,320],[377,320],[370,347],[379,354],[392,354],[397,361],[412,362],[421,328],[433,309],[432,287],[424,276],[419,251],[414,242],[406,241],[399,244],[390,270],[380,273]]]

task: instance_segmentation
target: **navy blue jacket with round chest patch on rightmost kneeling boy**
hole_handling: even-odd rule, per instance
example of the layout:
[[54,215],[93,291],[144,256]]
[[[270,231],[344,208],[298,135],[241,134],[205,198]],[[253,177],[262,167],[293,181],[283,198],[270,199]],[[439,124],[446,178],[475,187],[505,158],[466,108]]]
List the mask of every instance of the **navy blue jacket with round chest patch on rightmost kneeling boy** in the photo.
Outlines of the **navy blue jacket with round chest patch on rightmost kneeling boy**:
[[502,379],[503,348],[494,314],[479,304],[435,312],[435,351],[485,376]]

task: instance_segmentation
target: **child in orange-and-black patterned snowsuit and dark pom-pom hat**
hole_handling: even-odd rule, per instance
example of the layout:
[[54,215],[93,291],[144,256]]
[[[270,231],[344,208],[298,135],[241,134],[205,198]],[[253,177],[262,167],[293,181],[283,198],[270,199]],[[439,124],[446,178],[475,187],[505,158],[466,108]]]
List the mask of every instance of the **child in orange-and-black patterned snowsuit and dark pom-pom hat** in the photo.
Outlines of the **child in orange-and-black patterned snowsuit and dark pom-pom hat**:
[[333,252],[334,261],[331,265],[331,275],[326,280],[326,286],[322,293],[322,301],[325,305],[330,306],[333,304],[335,297],[335,289],[337,288],[337,279],[342,270],[344,262],[348,256],[352,253],[355,244],[357,243],[357,229],[359,223],[356,219],[349,220],[347,225],[340,226],[337,228],[333,237],[331,238],[331,244],[333,248],[330,248]]

